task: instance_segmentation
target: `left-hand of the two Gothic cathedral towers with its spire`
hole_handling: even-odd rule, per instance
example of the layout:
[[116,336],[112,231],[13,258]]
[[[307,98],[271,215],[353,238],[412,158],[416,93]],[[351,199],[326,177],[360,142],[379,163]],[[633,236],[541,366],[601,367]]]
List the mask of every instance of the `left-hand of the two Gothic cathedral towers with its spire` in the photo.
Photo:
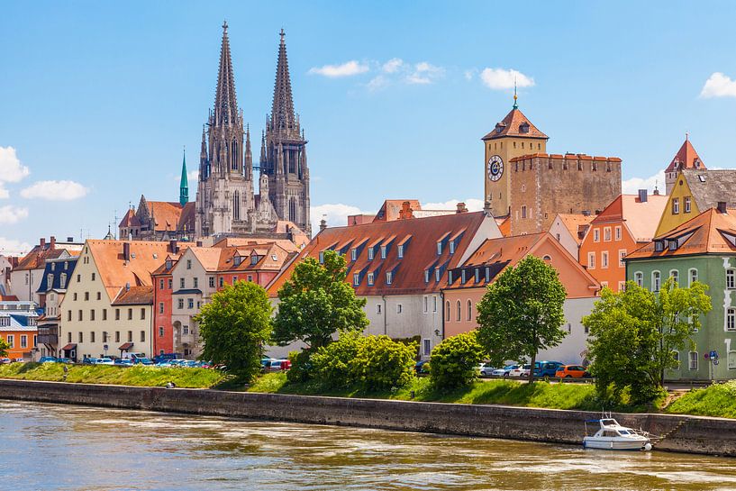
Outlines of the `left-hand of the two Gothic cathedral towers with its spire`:
[[196,235],[250,232],[253,172],[243,162],[245,128],[235,97],[227,23],[223,23],[214,109],[206,126],[206,132],[202,132],[196,193]]

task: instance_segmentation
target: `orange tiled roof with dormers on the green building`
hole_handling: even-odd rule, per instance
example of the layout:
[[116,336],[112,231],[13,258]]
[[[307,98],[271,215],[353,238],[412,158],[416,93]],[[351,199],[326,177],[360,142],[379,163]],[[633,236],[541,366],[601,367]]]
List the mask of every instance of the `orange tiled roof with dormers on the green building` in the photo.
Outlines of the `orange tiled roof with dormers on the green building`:
[[[662,250],[656,250],[657,241],[664,241]],[[670,241],[677,241],[676,249],[670,249]],[[719,213],[715,208],[709,208],[676,229],[659,235],[626,259],[729,253],[736,253],[736,210]]]

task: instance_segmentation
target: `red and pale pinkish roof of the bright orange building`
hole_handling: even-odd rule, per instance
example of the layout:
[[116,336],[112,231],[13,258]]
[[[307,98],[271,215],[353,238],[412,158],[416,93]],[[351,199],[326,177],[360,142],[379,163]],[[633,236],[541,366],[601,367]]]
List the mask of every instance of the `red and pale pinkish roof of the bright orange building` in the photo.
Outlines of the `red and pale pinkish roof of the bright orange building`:
[[624,222],[634,241],[650,241],[657,232],[659,219],[668,203],[667,195],[648,195],[642,202],[639,195],[619,195],[595,216],[591,224]]

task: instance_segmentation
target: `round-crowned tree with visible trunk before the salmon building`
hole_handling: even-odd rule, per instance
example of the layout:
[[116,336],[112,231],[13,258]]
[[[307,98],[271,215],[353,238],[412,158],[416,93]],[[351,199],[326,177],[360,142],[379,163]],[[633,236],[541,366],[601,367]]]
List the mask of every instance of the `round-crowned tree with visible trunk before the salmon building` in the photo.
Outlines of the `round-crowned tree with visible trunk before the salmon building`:
[[531,359],[532,382],[539,350],[559,345],[567,334],[561,329],[566,296],[557,270],[535,256],[506,268],[477,305],[477,340],[491,362]]

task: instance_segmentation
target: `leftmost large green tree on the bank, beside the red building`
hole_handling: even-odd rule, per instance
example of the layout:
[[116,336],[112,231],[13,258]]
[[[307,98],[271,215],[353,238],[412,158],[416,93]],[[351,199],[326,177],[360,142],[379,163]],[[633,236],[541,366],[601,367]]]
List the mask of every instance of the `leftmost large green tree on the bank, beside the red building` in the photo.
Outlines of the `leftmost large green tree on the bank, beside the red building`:
[[195,316],[204,343],[199,358],[226,365],[232,375],[250,382],[270,339],[272,310],[262,286],[250,281],[225,286]]

